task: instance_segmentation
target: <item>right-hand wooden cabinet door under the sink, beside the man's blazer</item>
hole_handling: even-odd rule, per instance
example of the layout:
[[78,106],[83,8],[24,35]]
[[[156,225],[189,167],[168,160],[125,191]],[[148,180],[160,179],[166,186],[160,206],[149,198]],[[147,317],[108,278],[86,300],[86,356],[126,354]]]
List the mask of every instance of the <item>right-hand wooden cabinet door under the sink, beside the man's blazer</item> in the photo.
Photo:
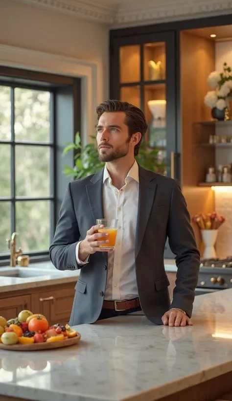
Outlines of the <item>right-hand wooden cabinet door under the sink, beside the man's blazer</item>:
[[66,324],[70,319],[74,293],[74,286],[73,289],[42,289],[32,296],[32,310],[44,314],[50,324]]

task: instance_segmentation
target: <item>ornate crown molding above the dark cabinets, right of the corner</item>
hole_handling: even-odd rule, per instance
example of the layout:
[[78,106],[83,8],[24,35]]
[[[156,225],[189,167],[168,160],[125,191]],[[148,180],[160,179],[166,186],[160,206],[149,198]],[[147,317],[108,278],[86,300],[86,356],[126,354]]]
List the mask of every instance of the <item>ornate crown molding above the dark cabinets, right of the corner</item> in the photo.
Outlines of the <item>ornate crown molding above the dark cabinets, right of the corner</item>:
[[[136,0],[135,0],[136,3]],[[139,22],[167,22],[183,19],[197,18],[199,16],[210,16],[232,13],[231,0],[159,0],[155,3],[148,0],[142,3],[133,4],[133,9],[129,8],[129,3],[121,3],[116,16],[116,25],[127,24],[137,25]],[[154,4],[155,3],[155,4]]]

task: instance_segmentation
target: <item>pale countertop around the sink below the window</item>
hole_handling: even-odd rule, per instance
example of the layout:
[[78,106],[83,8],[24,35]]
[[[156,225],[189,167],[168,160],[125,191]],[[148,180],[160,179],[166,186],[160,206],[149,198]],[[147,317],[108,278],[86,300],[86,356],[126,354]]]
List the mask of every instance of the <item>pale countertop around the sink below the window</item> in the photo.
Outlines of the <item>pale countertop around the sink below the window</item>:
[[[17,272],[29,274],[33,271],[33,277],[8,277],[7,274]],[[36,271],[39,272],[36,276]],[[28,267],[0,267],[0,292],[14,290],[26,290],[35,287],[53,286],[56,284],[72,283],[77,281],[79,270],[57,270],[51,262],[32,263]]]

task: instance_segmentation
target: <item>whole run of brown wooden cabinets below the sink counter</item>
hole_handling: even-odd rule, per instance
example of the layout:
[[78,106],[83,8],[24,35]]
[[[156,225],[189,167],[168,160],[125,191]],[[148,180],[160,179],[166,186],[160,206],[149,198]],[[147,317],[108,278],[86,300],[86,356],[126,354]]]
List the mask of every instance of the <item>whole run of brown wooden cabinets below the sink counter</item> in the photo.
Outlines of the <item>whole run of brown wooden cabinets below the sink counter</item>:
[[[49,324],[66,324],[70,320],[75,282],[0,294],[0,316],[17,317],[23,309],[42,313]],[[25,293],[26,292],[26,293]]]

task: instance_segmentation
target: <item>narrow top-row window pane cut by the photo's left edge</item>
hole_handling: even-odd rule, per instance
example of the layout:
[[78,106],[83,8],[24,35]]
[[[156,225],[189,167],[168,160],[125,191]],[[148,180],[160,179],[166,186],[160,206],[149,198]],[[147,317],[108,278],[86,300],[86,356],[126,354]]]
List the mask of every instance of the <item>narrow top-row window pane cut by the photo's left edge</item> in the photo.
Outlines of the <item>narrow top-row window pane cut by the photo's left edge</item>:
[[10,88],[0,86],[0,141],[11,139]]

